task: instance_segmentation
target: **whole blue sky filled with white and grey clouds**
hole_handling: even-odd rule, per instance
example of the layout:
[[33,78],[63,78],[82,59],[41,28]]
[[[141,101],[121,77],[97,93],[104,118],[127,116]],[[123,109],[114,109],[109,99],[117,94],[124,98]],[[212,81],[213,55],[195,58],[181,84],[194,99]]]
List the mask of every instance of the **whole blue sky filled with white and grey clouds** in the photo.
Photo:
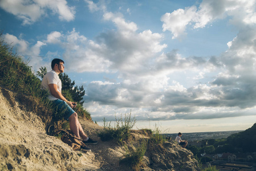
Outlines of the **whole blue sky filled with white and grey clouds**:
[[34,71],[61,58],[102,124],[162,133],[255,123],[256,1],[3,0],[3,38]]

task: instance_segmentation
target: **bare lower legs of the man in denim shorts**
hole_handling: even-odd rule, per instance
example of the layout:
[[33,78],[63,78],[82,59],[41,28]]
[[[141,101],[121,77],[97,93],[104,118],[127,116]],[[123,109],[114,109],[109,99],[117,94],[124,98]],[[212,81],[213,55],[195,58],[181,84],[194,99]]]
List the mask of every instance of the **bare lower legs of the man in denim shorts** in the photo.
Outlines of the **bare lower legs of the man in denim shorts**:
[[75,112],[70,117],[68,117],[68,120],[70,121],[70,129],[71,131],[77,136],[81,137],[83,140],[87,139],[86,134],[83,131],[83,128],[78,120],[78,114]]

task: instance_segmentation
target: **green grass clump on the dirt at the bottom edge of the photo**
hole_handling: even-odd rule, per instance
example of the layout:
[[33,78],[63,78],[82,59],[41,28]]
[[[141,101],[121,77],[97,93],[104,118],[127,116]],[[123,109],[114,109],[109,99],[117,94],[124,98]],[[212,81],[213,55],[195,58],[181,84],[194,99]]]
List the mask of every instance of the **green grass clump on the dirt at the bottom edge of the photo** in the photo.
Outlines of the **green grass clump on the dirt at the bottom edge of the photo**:
[[143,156],[147,150],[148,140],[143,139],[140,145],[137,145],[136,148],[125,147],[124,159],[120,161],[120,164],[128,164],[133,170],[139,170],[141,161],[143,161]]

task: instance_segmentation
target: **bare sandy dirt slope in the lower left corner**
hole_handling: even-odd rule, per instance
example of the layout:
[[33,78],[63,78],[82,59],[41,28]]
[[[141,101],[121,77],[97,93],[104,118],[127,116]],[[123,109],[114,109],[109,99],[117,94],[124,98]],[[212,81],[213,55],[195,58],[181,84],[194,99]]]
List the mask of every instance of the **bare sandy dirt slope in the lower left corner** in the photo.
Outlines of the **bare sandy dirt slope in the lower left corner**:
[[0,170],[99,169],[93,152],[75,152],[44,128],[40,117],[21,109],[15,93],[1,87]]

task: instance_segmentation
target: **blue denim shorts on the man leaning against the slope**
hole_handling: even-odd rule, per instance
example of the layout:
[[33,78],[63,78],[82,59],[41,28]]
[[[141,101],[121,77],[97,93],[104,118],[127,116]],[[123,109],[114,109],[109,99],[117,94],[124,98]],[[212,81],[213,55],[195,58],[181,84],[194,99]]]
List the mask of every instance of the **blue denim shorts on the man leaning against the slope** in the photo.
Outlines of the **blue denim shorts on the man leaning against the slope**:
[[68,120],[68,117],[70,117],[75,111],[66,103],[66,101],[57,99],[53,100],[52,103],[54,103],[54,106],[56,107],[57,112],[64,112],[64,119]]

